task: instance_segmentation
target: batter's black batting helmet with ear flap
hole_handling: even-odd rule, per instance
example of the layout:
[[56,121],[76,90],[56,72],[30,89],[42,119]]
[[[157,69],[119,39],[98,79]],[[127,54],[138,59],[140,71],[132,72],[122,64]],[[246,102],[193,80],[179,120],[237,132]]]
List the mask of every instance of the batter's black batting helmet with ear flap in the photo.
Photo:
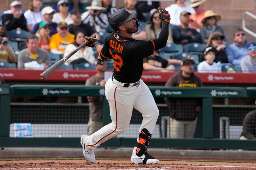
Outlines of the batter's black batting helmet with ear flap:
[[[127,9],[121,8],[115,11],[109,18],[109,25],[113,28],[115,32],[117,32],[117,27],[121,24],[129,21],[135,16],[136,13],[130,13]],[[140,22],[133,18],[136,21],[137,27],[140,26]]]

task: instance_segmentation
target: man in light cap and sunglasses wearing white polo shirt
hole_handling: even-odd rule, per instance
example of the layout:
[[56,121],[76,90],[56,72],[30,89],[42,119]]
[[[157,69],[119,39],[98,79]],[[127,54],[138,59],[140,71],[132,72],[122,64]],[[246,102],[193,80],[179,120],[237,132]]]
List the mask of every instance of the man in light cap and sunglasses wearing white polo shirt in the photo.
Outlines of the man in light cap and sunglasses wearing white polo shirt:
[[66,22],[68,25],[73,24],[73,19],[68,12],[68,6],[68,0],[60,0],[57,3],[57,8],[60,12],[53,15],[52,22],[56,22],[57,24],[59,24],[60,22]]

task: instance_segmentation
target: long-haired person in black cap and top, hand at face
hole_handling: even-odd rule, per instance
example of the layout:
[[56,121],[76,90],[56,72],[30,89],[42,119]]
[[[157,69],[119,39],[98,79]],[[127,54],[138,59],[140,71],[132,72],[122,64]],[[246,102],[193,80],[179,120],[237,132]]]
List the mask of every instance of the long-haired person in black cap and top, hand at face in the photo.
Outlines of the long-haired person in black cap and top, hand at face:
[[216,49],[214,62],[220,61],[221,63],[228,63],[228,56],[226,53],[226,44],[223,43],[225,37],[220,32],[213,32],[206,43],[207,47]]

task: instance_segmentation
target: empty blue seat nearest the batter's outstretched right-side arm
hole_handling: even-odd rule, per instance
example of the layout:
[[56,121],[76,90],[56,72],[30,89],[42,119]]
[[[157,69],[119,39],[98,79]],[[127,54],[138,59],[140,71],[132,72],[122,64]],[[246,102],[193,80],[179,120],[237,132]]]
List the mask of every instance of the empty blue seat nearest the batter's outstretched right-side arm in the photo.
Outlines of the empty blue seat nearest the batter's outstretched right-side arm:
[[182,52],[183,52],[182,45],[167,43],[166,46],[161,49],[161,53],[159,55],[165,59],[170,59],[174,55],[181,54]]

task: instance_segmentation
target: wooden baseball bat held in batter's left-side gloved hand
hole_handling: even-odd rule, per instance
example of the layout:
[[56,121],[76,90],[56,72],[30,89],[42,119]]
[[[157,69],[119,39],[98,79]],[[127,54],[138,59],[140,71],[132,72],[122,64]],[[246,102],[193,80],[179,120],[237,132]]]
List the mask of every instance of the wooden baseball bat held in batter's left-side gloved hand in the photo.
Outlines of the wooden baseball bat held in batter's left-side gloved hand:
[[[96,37],[96,35],[92,35],[93,38]],[[72,55],[74,55],[79,49],[81,49],[82,47],[84,47],[87,44],[88,40],[85,41],[82,45],[80,45],[79,47],[77,47],[74,51],[72,51],[70,54],[68,54],[67,56],[63,57],[60,61],[58,61],[57,63],[54,63],[51,67],[49,67],[48,69],[46,69],[43,73],[40,74],[40,78],[41,79],[45,79],[47,78],[50,74],[52,74],[53,71],[57,70],[63,63],[65,63]]]

